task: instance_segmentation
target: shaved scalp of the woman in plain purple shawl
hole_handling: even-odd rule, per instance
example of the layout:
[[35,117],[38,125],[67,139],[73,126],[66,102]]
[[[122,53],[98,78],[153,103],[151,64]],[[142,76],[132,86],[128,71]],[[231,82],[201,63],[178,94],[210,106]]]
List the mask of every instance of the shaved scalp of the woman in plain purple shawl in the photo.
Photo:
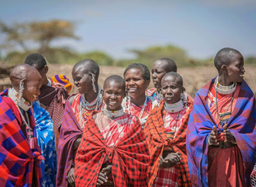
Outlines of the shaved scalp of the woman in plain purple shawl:
[[84,59],[76,63],[73,70],[86,70],[87,73],[95,74],[95,78],[99,77],[99,65],[92,59]]

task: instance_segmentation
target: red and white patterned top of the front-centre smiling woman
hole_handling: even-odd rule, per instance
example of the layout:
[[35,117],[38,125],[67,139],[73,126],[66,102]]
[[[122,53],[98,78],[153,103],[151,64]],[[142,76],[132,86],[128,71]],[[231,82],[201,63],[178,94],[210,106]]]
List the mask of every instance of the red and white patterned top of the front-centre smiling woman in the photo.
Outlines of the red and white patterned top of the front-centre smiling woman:
[[124,137],[124,134],[129,131],[130,127],[132,127],[133,124],[136,124],[137,120],[138,119],[133,115],[126,113],[118,118],[109,120],[109,118],[102,112],[99,112],[95,122],[98,126],[99,124],[106,124],[104,125],[105,128],[100,129],[100,132],[102,133],[106,144],[108,146],[114,146]]

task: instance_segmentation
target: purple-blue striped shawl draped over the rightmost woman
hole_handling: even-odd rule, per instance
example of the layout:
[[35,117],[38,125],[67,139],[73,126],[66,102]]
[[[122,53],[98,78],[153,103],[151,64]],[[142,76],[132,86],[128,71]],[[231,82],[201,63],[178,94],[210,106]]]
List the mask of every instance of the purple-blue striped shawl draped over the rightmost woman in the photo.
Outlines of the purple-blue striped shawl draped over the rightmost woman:
[[[206,103],[209,87],[214,81],[215,78],[197,91],[194,98],[194,108],[188,121],[188,168],[193,186],[208,186],[208,136],[214,125],[218,132],[223,131],[223,128],[218,128]],[[227,126],[236,138],[237,146],[242,153],[246,186],[249,186],[250,174],[256,161],[255,124],[255,96],[246,82],[243,81]]]

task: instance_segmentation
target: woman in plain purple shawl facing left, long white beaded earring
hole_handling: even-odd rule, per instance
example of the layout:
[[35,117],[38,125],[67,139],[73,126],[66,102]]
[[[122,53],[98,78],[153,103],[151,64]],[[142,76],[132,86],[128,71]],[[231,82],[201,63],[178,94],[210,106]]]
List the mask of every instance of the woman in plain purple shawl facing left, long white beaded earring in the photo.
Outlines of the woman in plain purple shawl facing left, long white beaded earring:
[[[78,94],[69,97],[60,128],[59,160],[56,186],[75,186],[74,160],[81,142],[87,118],[102,107],[102,96],[97,84],[99,66],[94,60],[85,59],[72,69],[74,85]],[[70,121],[70,116],[75,117]]]

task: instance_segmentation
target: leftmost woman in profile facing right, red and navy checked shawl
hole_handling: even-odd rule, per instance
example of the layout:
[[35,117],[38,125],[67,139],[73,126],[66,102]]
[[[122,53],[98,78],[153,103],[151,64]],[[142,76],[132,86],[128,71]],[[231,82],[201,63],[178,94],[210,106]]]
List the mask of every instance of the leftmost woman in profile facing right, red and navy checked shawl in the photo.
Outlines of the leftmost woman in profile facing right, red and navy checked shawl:
[[41,186],[43,159],[31,112],[41,87],[41,75],[29,65],[16,66],[12,87],[0,94],[1,186]]

